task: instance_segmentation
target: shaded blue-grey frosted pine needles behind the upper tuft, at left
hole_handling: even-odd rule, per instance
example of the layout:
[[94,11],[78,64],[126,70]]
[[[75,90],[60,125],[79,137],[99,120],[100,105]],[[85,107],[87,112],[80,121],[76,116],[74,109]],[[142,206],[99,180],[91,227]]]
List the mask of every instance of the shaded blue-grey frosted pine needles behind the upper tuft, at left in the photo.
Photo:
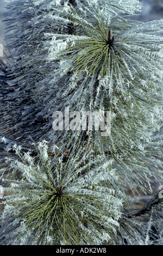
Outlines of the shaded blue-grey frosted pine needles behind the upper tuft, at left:
[[[10,3],[10,1],[8,2]],[[113,15],[118,15],[120,12],[123,13],[125,11],[127,14],[133,14],[136,9],[140,9],[138,1],[134,1],[133,4],[130,1],[119,1],[117,7],[116,5],[111,1],[110,4],[106,1],[102,3],[99,1],[78,1],[76,8],[80,19],[84,19],[86,23],[89,23],[87,19],[97,23],[97,19],[93,14],[94,11],[100,11],[103,19],[108,21]],[[16,124],[20,122],[20,124],[23,124],[24,121],[28,120],[28,127],[31,124],[30,129],[33,129],[32,127],[36,124],[36,138],[40,137],[39,134],[43,127],[51,129],[49,120],[46,122],[46,126],[43,126],[40,124],[40,119],[47,120],[49,117],[52,118],[54,109],[51,109],[51,107],[54,108],[56,105],[55,101],[51,101],[54,100],[56,93],[53,71],[59,69],[60,64],[58,62],[48,62],[49,58],[45,51],[45,44],[49,40],[45,38],[45,33],[51,33],[52,31],[60,33],[62,31],[67,34],[67,23],[70,20],[60,14],[63,9],[64,13],[71,11],[68,1],[26,1],[24,4],[23,2],[20,3],[20,1],[11,1],[6,13],[7,27],[9,27],[8,31],[10,32],[7,40],[8,42],[12,41],[9,50],[12,51],[11,57],[13,58],[12,64],[10,65],[9,63],[8,66],[8,71],[12,76],[11,81],[9,81],[10,78],[8,77],[8,93],[10,100],[13,99],[10,113],[15,113]],[[108,9],[110,12],[108,12]],[[98,15],[97,13],[96,16],[98,17]],[[28,22],[26,20],[27,16]],[[120,18],[117,19],[119,20]],[[39,29],[38,31],[40,23],[41,30]],[[12,28],[10,28],[10,25],[12,25]],[[31,54],[32,58],[29,58]],[[22,56],[22,58],[18,56]],[[17,67],[16,70],[15,67]],[[31,67],[33,68],[31,69]],[[15,74],[15,76],[13,77],[12,74]],[[35,77],[35,80],[33,80],[33,77]],[[15,102],[15,98],[17,102]],[[49,104],[51,104],[50,109],[53,112],[49,112]],[[15,109],[14,106],[16,106]],[[42,109],[44,110],[42,111]],[[24,134],[23,130],[22,133]]]

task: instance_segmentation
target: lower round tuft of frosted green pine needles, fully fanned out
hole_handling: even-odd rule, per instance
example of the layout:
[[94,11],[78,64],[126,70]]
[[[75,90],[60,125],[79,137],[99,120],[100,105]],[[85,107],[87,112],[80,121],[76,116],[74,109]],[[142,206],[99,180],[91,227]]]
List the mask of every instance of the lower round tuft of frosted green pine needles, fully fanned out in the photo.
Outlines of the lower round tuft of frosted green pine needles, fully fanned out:
[[32,157],[15,147],[18,159],[10,162],[10,168],[19,178],[9,178],[6,188],[11,194],[1,218],[5,239],[12,245],[111,241],[123,205],[123,193],[111,186],[118,187],[114,170],[108,173],[107,163],[99,164],[98,158],[86,161],[86,156],[85,164],[83,158],[65,162],[56,147],[48,156],[46,142],[37,148],[38,155]]

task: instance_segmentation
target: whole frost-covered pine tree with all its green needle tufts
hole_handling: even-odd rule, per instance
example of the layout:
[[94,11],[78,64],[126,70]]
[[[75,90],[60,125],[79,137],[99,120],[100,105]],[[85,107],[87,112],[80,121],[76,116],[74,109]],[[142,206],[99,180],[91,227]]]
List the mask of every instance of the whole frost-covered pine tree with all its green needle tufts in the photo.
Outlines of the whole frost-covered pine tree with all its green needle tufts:
[[[134,209],[127,188],[162,177],[163,20],[135,21],[137,0],[7,2],[0,244],[162,245],[159,192]],[[65,109],[110,112],[110,135],[52,129]]]

